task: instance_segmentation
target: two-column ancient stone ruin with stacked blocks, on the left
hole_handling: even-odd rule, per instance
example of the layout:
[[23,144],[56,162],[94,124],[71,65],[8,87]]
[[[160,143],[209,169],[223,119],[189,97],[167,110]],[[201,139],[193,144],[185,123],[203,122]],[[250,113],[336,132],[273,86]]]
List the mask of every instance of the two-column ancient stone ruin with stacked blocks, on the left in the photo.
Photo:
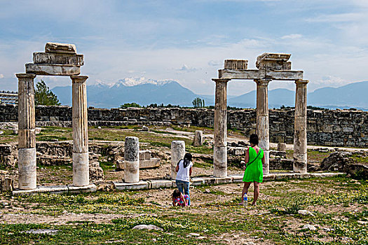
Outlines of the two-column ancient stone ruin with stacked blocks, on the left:
[[83,55],[67,43],[46,43],[45,52],[34,52],[34,63],[25,64],[18,78],[18,168],[20,190],[36,188],[36,135],[34,78],[36,75],[70,76],[72,81],[73,186],[89,185],[86,80],[79,76]]

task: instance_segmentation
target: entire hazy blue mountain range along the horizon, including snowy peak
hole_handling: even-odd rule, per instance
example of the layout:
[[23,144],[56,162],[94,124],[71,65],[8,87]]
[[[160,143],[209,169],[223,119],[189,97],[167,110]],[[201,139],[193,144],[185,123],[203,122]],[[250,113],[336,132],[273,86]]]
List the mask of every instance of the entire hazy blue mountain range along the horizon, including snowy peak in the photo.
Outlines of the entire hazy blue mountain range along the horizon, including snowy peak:
[[[54,87],[53,91],[63,105],[71,105],[71,86]],[[308,93],[308,105],[329,109],[356,108],[368,110],[368,81],[350,83],[342,87],[323,87]],[[149,104],[172,104],[192,106],[194,98],[205,99],[205,105],[214,104],[214,95],[195,94],[175,80],[152,80],[147,78],[125,78],[107,85],[97,83],[87,86],[88,106],[118,108],[121,104],[135,102]],[[294,106],[295,92],[278,88],[268,91],[268,107]],[[255,108],[256,91],[240,96],[228,97],[228,105],[240,108]]]

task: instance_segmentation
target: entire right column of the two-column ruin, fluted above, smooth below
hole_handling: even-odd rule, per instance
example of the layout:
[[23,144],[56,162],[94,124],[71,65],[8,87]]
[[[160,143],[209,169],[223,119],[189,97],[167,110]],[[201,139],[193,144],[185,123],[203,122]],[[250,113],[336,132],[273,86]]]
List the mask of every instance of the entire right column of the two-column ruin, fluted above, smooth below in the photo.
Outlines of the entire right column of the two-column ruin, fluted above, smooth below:
[[88,163],[87,91],[88,76],[70,76],[72,80],[73,186],[90,183]]

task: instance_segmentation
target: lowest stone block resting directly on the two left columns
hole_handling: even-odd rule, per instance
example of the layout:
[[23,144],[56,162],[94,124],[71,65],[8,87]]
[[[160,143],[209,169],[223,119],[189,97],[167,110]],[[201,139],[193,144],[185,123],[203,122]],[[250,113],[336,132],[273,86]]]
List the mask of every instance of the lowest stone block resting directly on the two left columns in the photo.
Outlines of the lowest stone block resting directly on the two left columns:
[[81,66],[70,64],[25,64],[25,72],[46,76],[74,76],[81,73]]

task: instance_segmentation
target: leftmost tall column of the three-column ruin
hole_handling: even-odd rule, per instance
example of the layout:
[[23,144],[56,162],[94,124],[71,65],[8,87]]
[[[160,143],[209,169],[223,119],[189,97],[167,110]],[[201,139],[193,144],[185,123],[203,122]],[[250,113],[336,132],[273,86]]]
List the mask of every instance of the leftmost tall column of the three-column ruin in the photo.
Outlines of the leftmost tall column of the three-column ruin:
[[213,176],[227,176],[227,82],[229,79],[212,79],[216,83],[214,94],[214,148]]

